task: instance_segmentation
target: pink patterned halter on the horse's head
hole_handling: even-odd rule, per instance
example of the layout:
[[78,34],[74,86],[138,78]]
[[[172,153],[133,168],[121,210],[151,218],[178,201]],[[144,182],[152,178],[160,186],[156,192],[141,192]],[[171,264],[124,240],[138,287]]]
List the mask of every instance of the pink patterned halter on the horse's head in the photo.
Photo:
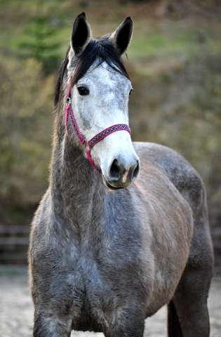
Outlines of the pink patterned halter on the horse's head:
[[98,167],[95,165],[95,162],[93,161],[93,159],[91,157],[91,148],[95,144],[100,142],[100,140],[107,137],[108,135],[110,135],[113,132],[125,130],[125,131],[128,131],[128,133],[130,133],[129,126],[127,124],[114,124],[112,126],[109,126],[108,128],[105,128],[105,130],[100,131],[97,135],[93,136],[90,140],[86,140],[83,137],[81,131],[79,130],[79,127],[76,124],[76,120],[74,118],[69,84],[67,84],[67,103],[66,103],[66,109],[65,109],[65,128],[66,128],[67,136],[69,137],[69,133],[67,131],[67,117],[69,117],[69,120],[72,123],[72,126],[74,128],[74,132],[76,133],[76,136],[79,138],[79,142],[82,145],[85,145],[85,146],[88,145],[89,150],[86,150],[86,154],[88,156],[89,161],[91,162],[91,165],[94,167],[95,170],[97,170],[101,174],[100,169],[98,169]]

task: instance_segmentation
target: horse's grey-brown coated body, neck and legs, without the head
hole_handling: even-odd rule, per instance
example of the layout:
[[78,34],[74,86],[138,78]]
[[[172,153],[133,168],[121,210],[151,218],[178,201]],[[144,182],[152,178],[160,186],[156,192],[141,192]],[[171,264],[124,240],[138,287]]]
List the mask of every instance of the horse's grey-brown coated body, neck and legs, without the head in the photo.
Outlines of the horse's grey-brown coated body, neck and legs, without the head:
[[133,143],[140,177],[108,192],[67,138],[60,96],[50,186],[29,248],[33,336],[142,337],[145,318],[173,300],[183,336],[208,337],[213,249],[198,173],[167,147]]

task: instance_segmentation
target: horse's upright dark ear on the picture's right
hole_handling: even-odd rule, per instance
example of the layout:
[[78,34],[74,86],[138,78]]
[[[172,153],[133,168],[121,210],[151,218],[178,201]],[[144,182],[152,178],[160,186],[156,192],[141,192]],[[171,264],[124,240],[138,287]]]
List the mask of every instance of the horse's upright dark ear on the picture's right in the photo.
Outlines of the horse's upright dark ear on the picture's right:
[[126,18],[121,25],[111,34],[110,39],[116,45],[119,53],[122,55],[126,52],[133,33],[133,21],[130,16]]

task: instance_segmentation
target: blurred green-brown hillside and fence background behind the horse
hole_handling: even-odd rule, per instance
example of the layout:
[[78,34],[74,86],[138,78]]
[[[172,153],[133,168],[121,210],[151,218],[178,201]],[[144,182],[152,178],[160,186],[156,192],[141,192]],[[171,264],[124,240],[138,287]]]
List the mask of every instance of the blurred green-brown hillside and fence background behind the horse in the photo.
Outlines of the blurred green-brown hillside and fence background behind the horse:
[[0,0],[0,264],[26,264],[29,225],[48,187],[53,91],[76,15],[93,36],[130,15],[124,58],[133,140],[182,154],[206,185],[221,267],[221,1]]

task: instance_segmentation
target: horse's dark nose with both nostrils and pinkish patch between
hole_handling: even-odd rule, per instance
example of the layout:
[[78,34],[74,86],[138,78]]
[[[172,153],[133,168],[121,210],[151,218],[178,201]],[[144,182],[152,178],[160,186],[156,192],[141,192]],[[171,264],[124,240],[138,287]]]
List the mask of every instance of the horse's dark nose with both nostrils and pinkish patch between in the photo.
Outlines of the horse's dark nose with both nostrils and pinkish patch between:
[[140,161],[134,159],[130,164],[126,164],[123,159],[114,159],[112,165],[109,167],[109,179],[114,185],[130,185],[131,181],[138,178],[140,173]]

